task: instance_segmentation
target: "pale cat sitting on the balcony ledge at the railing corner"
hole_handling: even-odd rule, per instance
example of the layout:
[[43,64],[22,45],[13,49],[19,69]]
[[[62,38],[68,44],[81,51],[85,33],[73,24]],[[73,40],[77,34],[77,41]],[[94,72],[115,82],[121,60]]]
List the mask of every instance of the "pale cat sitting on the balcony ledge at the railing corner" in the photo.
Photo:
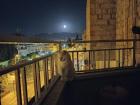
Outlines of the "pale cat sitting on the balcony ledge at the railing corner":
[[60,51],[56,55],[56,73],[61,76],[61,80],[71,81],[74,78],[75,69],[67,51]]

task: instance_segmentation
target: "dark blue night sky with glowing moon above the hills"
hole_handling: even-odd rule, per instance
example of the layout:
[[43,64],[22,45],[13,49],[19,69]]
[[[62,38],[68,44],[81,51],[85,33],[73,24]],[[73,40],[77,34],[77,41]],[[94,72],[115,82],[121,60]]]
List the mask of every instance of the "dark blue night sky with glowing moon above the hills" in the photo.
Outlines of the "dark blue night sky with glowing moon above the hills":
[[86,0],[0,0],[0,33],[82,33],[85,8]]

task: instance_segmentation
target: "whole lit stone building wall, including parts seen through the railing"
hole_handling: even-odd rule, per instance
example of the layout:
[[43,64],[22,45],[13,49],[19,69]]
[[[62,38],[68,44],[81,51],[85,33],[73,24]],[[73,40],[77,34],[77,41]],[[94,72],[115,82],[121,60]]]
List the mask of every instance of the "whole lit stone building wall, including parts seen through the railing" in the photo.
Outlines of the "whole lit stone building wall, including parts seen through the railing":
[[[87,0],[86,18],[85,40],[133,39],[132,27],[140,26],[140,0]],[[140,35],[137,35],[137,38],[140,38]],[[132,42],[96,43],[87,44],[86,48],[124,48],[132,46]],[[140,59],[140,42],[137,43],[137,48],[136,58],[137,62],[140,62],[138,61]],[[124,59],[127,60],[127,63],[132,63],[133,52],[126,51],[125,53]],[[116,53],[116,60],[117,57],[118,54]]]

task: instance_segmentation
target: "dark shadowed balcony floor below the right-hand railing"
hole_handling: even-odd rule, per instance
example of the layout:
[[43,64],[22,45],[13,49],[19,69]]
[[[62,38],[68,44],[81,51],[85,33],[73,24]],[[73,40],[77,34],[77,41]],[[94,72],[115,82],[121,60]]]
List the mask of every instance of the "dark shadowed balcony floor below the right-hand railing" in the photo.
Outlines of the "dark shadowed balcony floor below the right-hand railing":
[[68,82],[57,105],[140,105],[140,72]]

